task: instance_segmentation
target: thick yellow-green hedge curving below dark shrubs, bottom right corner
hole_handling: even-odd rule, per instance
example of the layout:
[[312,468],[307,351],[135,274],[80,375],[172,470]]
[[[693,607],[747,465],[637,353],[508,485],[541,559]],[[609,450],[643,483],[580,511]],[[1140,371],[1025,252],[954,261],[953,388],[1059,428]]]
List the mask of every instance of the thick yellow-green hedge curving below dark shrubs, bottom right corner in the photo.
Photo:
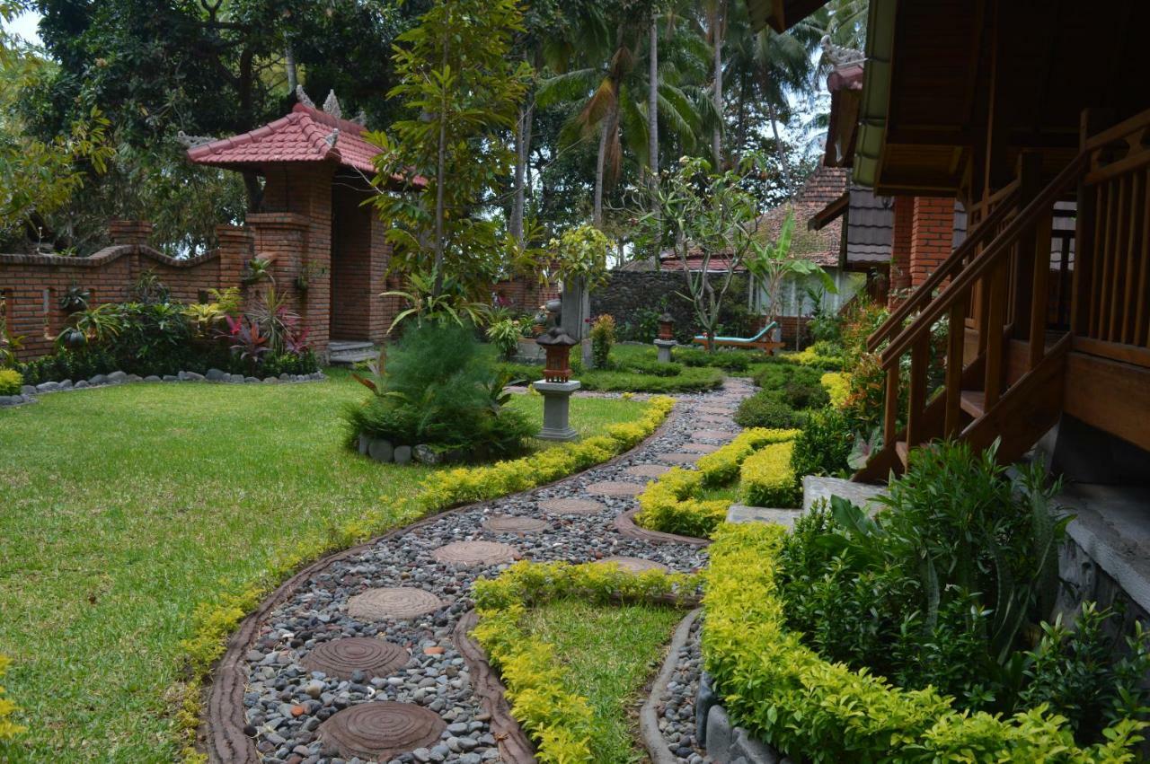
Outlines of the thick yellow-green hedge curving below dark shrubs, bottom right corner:
[[1010,718],[956,711],[934,689],[906,690],[828,663],[787,631],[775,588],[785,531],[723,524],[705,573],[703,658],[733,724],[811,762],[1130,762],[1145,723],[1075,746],[1044,707]]

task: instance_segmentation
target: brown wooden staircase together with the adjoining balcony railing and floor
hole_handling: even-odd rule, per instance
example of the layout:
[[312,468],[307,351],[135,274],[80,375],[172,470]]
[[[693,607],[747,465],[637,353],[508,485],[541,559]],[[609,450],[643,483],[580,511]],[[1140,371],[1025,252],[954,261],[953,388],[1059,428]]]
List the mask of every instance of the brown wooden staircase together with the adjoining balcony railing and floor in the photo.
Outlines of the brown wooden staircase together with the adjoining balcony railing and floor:
[[1048,183],[1042,154],[1023,153],[869,338],[885,446],[858,479],[900,471],[936,438],[998,440],[1014,461],[1064,412],[1150,449],[1150,110],[1086,132]]

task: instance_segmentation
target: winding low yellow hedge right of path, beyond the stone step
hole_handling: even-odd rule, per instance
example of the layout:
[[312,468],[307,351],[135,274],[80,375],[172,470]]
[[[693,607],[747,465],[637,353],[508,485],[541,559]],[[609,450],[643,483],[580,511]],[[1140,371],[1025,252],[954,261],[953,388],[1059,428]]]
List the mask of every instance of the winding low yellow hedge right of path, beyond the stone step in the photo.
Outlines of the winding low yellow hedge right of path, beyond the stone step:
[[707,538],[727,518],[730,502],[722,499],[699,500],[704,486],[733,483],[739,465],[757,448],[793,440],[798,430],[753,427],[741,432],[733,441],[698,461],[698,471],[675,468],[647,484],[638,496],[639,511],[635,523],[664,533]]

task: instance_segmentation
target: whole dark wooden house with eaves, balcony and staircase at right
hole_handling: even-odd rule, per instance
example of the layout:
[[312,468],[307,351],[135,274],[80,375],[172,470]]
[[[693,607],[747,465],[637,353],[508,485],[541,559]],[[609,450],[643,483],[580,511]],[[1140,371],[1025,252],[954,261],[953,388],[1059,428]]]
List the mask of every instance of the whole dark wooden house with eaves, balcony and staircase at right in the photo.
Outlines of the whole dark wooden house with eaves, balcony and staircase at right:
[[[749,5],[782,30],[822,3]],[[1014,461],[1061,431],[1067,463],[1088,463],[1073,452],[1089,442],[1088,472],[1145,463],[1148,28],[1143,0],[872,0],[858,116],[836,146],[856,183],[957,199],[969,230],[869,340],[887,446],[860,479],[940,437],[1000,440]]]

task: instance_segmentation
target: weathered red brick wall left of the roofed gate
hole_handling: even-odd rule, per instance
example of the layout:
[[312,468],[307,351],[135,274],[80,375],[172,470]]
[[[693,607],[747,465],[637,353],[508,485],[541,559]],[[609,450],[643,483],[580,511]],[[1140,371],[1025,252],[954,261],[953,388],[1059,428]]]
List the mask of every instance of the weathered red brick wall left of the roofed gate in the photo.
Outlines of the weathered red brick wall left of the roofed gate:
[[60,298],[72,286],[90,292],[92,307],[123,302],[139,276],[151,270],[174,300],[193,302],[209,288],[236,284],[250,256],[251,233],[244,229],[218,226],[220,248],[189,260],[174,260],[148,247],[151,231],[148,223],[114,221],[109,232],[115,244],[90,257],[0,254],[0,296],[8,331],[24,337],[20,358],[52,353],[53,340],[67,321]]

